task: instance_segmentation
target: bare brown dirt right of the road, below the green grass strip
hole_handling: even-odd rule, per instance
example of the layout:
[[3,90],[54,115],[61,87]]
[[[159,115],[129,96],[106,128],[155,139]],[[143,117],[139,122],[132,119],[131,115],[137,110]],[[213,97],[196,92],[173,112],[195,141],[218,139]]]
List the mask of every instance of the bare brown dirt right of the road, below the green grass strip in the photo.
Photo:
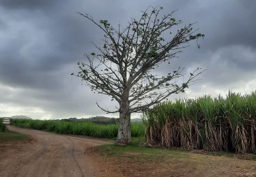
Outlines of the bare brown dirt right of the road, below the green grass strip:
[[165,157],[147,152],[124,152],[119,155],[102,155],[101,158],[104,158],[105,163],[117,164],[115,169],[124,176],[256,176],[255,160],[238,159],[240,156],[204,155],[199,152],[177,151],[177,154],[169,156],[165,152]]

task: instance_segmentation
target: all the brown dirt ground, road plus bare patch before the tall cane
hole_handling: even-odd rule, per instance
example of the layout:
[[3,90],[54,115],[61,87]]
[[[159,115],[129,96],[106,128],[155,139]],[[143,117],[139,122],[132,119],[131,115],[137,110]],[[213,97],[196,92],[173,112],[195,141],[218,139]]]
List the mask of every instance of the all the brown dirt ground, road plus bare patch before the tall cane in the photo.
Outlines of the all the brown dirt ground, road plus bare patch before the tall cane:
[[[256,176],[256,161],[170,151],[163,155],[124,152],[102,155],[96,138],[9,127],[31,137],[0,143],[0,176]],[[110,145],[107,145],[110,146]],[[106,150],[115,150],[111,147]],[[181,155],[180,155],[181,154]],[[166,156],[165,156],[166,155]]]

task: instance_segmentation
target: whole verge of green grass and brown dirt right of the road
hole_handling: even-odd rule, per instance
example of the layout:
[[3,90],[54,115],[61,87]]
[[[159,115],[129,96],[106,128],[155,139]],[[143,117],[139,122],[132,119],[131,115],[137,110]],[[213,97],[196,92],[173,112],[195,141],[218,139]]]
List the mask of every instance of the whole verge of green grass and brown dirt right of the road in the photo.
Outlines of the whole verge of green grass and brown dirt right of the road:
[[[137,139],[137,138],[132,138]],[[128,176],[255,176],[256,155],[106,144],[91,150]],[[108,169],[109,170],[109,169]]]

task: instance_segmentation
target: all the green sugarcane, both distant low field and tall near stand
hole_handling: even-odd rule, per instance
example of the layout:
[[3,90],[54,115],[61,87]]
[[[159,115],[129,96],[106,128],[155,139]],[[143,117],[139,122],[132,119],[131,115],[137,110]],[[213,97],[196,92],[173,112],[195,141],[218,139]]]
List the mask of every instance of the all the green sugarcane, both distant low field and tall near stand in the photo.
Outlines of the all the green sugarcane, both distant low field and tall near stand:
[[[207,152],[256,153],[256,92],[167,101],[143,116],[143,123],[132,123],[132,142]],[[17,127],[111,139],[116,138],[118,130],[117,123],[102,125],[88,121],[12,119],[11,123]]]

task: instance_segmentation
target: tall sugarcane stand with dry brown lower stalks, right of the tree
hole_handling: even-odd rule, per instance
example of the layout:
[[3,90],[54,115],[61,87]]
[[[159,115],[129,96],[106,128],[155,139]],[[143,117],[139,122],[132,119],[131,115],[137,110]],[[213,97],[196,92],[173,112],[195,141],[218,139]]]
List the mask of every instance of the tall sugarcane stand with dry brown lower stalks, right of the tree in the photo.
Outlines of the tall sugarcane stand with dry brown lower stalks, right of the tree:
[[256,152],[256,92],[159,103],[144,115],[147,142],[154,146]]

